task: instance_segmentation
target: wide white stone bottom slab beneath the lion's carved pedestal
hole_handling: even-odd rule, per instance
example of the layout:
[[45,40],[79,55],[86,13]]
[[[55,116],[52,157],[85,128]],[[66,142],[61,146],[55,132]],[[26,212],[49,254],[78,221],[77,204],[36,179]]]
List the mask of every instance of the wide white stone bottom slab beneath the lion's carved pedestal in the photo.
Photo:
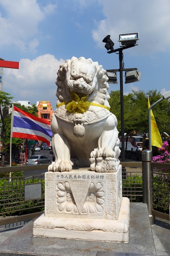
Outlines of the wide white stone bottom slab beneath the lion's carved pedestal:
[[45,217],[44,213],[33,224],[34,237],[128,243],[130,201],[122,198],[117,220]]

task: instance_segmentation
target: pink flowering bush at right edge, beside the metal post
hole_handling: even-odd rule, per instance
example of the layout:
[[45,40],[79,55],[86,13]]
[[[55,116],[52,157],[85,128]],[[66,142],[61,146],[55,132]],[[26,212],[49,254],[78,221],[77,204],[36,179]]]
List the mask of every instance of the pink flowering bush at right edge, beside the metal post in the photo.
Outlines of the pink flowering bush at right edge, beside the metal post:
[[[170,153],[168,152],[168,142],[164,141],[161,148],[158,148],[159,155],[152,157],[153,162],[157,163],[167,163],[170,164]],[[170,170],[162,169],[162,171],[166,171],[170,173]]]

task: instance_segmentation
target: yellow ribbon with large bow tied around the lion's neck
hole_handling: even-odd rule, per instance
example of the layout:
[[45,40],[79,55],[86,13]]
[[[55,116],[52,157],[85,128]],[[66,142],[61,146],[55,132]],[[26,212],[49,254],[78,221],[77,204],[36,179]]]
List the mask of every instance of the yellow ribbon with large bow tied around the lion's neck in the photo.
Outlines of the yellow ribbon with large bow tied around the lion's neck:
[[101,107],[101,108],[106,108],[107,110],[110,110],[110,108],[108,108],[104,105],[86,101],[87,96],[78,96],[75,92],[71,92],[71,99],[72,99],[72,101],[64,101],[60,104],[57,104],[57,108],[62,105],[66,105],[67,111],[75,112],[75,113],[86,112],[90,105]]

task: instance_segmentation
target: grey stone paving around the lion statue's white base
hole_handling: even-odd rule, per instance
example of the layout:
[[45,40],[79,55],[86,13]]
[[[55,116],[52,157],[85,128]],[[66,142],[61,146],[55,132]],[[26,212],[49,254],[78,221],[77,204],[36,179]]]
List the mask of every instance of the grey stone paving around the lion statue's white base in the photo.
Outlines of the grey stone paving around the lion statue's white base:
[[[130,204],[129,243],[33,237],[33,222],[0,227],[0,256],[112,256],[115,252],[170,256],[170,222],[156,219],[150,226],[146,204]],[[22,227],[22,228],[20,228]]]

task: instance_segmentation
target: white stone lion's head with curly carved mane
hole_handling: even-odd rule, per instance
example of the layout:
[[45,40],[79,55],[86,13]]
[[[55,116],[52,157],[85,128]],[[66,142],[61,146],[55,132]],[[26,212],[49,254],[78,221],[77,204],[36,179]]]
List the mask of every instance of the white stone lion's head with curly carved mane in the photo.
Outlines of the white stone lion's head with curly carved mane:
[[86,95],[88,101],[109,107],[106,70],[91,58],[72,57],[60,65],[57,75],[57,104],[70,101],[71,92],[75,92],[77,95]]

